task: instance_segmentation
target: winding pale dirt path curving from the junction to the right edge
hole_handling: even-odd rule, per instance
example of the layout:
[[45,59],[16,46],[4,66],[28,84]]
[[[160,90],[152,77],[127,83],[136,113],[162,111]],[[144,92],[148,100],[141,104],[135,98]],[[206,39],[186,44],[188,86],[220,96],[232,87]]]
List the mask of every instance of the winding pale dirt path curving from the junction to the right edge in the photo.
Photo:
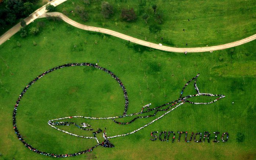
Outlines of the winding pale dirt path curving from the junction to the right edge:
[[124,40],[127,40],[127,41],[129,40],[133,43],[137,43],[137,44],[140,44],[142,46],[151,47],[151,48],[155,48],[155,49],[158,49],[158,50],[169,51],[169,52],[185,52],[185,51],[187,51],[187,52],[208,52],[208,51],[223,50],[223,49],[226,49],[226,48],[239,46],[241,44],[248,43],[248,42],[253,41],[253,40],[256,39],[256,34],[254,34],[254,35],[252,35],[250,37],[247,37],[245,39],[235,41],[235,42],[232,42],[232,43],[219,45],[219,46],[196,47],[196,48],[175,48],[175,47],[159,46],[159,44],[143,41],[143,40],[131,37],[131,36],[127,36],[127,35],[119,33],[119,32],[115,32],[113,30],[83,25],[83,24],[80,24],[80,23],[77,23],[77,22],[73,21],[72,19],[68,18],[66,15],[64,15],[60,12],[45,13],[39,18],[49,17],[49,16],[50,17],[53,17],[53,16],[54,17],[60,17],[63,21],[65,21],[66,23],[69,23],[72,26],[75,26],[76,28],[109,34],[111,36],[115,36],[115,37],[118,37],[118,38],[121,38],[121,39],[124,39]]

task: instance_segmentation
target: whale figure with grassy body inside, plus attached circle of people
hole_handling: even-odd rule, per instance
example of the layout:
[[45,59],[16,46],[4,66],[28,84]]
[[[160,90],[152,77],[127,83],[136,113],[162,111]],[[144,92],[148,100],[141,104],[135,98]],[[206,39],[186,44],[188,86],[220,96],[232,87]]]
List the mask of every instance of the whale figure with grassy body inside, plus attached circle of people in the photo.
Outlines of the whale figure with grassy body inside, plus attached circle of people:
[[[30,86],[32,86],[37,80],[39,80],[40,78],[42,78],[44,75],[53,72],[54,70],[57,69],[61,69],[64,67],[69,67],[69,66],[91,66],[100,70],[103,70],[105,72],[107,72],[108,74],[110,74],[116,81],[118,81],[119,86],[122,88],[123,93],[124,93],[124,98],[125,98],[125,110],[123,112],[122,115],[120,116],[113,116],[113,117],[88,117],[88,116],[68,116],[68,117],[62,117],[62,118],[57,118],[57,119],[52,119],[48,121],[48,125],[50,125],[51,127],[65,132],[69,135],[72,136],[76,136],[76,137],[81,137],[81,138],[88,138],[88,139],[95,139],[95,141],[97,142],[95,146],[87,149],[87,150],[83,150],[77,153],[72,153],[72,154],[54,154],[54,153],[46,153],[46,152],[42,152],[40,150],[37,150],[36,148],[34,148],[33,146],[29,145],[28,143],[25,142],[25,140],[22,138],[21,134],[18,131],[17,128],[17,124],[16,124],[16,113],[17,113],[17,107],[19,105],[19,102],[21,100],[21,98],[23,97],[23,95],[25,94],[25,92],[28,90],[28,88]],[[129,100],[128,100],[128,95],[126,92],[126,88],[123,85],[123,83],[120,81],[120,79],[115,76],[115,74],[113,74],[113,72],[102,68],[100,66],[98,66],[97,64],[92,64],[92,63],[68,63],[62,66],[57,66],[55,68],[52,68],[46,72],[44,72],[43,74],[40,74],[39,76],[37,76],[34,80],[32,80],[22,91],[21,95],[19,95],[19,98],[14,106],[14,111],[13,111],[13,128],[15,130],[15,133],[17,134],[18,138],[24,143],[24,145],[26,147],[28,147],[30,150],[36,152],[36,153],[40,153],[46,156],[52,156],[52,157],[69,157],[69,156],[77,156],[79,154],[83,154],[83,153],[87,153],[87,152],[91,152],[94,148],[96,148],[97,146],[102,146],[102,147],[114,147],[114,145],[109,141],[109,139],[111,138],[116,138],[116,137],[124,137],[130,134],[134,134],[137,131],[140,131],[141,129],[149,126],[150,124],[154,123],[155,121],[161,119],[163,116],[165,116],[166,114],[172,112],[174,109],[178,108],[179,106],[183,105],[184,103],[192,103],[192,104],[210,104],[213,102],[218,101],[221,98],[224,98],[224,95],[220,95],[220,94],[210,94],[210,93],[203,93],[200,92],[197,85],[196,85],[196,80],[198,78],[199,74],[197,74],[195,77],[193,77],[191,80],[189,80],[184,87],[181,90],[180,93],[180,97],[172,102],[168,102],[165,103],[161,106],[156,106],[154,108],[151,108],[150,105],[151,103],[149,103],[148,105],[145,105],[142,107],[142,109],[140,110],[140,112],[137,113],[131,113],[131,114],[127,114],[127,109],[128,109],[128,104],[129,104]],[[183,96],[183,92],[185,90],[185,88],[191,84],[191,82],[194,82],[194,88],[196,91],[196,94],[191,94],[191,95],[186,95]],[[192,98],[193,97],[203,97],[203,96],[208,96],[208,97],[216,97],[216,99],[214,99],[213,101],[209,101],[209,102],[193,102]],[[158,114],[160,113],[160,114]],[[156,117],[154,120],[150,119],[149,117]],[[126,119],[129,120],[126,120]],[[78,120],[81,120],[80,122],[77,122]],[[133,122],[136,123],[136,121],[138,121],[139,119],[148,119],[148,121],[145,122],[141,122],[143,124],[141,124],[141,127],[137,128],[136,130],[131,130],[128,132],[124,132],[122,134],[115,134],[115,133],[110,133],[110,132],[106,132],[107,128],[109,127],[108,125],[111,124],[113,126],[113,123],[118,125],[118,126],[123,126],[125,128],[126,125],[131,124]],[[91,122],[93,121],[97,121],[96,124],[100,124],[101,126],[103,126],[103,128],[100,128],[98,126],[93,127],[93,125],[91,125]],[[108,123],[107,123],[108,121]],[[111,121],[111,123],[109,123],[109,121]],[[89,123],[90,122],[90,123]],[[106,123],[105,123],[106,122]],[[138,121],[139,122],[139,121]],[[94,123],[95,124],[95,123]],[[67,126],[75,126],[77,128],[79,128],[80,130],[83,130],[81,134],[76,134],[73,133],[71,131],[66,131],[64,129],[61,129],[61,127],[67,127]],[[115,127],[115,126],[114,126]],[[80,131],[79,130],[79,131]],[[87,134],[87,135],[85,135]],[[113,134],[113,135],[110,135]],[[102,139],[102,141],[100,140]]]

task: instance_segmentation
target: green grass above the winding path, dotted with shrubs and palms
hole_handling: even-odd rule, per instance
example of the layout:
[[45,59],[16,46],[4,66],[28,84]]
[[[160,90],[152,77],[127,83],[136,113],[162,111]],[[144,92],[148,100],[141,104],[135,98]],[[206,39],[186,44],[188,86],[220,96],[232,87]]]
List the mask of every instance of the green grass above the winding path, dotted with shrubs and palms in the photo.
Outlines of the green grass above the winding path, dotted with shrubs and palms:
[[[80,0],[68,0],[57,6],[57,11],[79,23],[108,28],[138,39],[180,48],[215,46],[256,33],[254,0],[140,0],[138,3],[133,0],[108,0],[115,8],[115,15],[110,19],[104,19],[101,14],[101,0],[90,2],[90,5],[85,5]],[[163,12],[164,23],[161,25],[154,21],[151,8],[153,3],[158,4],[158,10]],[[88,22],[80,19],[75,11],[76,6],[83,6],[88,11]],[[134,8],[138,15],[137,21],[123,21],[120,18],[122,8]],[[71,13],[71,10],[74,12]],[[147,24],[141,18],[144,12],[150,16]],[[118,23],[117,26],[115,22]],[[188,43],[188,46],[185,43]]]

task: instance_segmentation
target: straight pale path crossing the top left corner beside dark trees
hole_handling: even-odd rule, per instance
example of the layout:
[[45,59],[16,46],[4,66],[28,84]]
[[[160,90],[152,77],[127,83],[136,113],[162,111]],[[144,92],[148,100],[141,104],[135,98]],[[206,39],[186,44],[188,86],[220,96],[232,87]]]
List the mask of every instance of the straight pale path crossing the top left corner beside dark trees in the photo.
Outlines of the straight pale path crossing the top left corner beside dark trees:
[[[29,23],[33,22],[35,19],[43,15],[47,12],[46,5],[51,4],[53,6],[58,6],[59,4],[65,2],[67,0],[52,0],[51,2],[45,4],[41,8],[37,9],[35,12],[29,15],[29,17],[25,18],[24,21],[28,25]],[[15,33],[19,32],[19,29],[21,29],[21,23],[19,22],[17,25],[13,26],[11,29],[9,29],[6,33],[4,33],[2,36],[0,36],[0,45],[3,44],[5,41],[11,38]]]

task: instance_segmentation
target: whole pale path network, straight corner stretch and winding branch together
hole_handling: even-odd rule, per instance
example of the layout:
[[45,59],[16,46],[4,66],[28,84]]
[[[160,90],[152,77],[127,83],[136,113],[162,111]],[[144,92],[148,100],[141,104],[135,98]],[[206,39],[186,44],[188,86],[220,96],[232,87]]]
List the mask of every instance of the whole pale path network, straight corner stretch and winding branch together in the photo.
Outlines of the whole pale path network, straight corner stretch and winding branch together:
[[[66,1],[66,0],[53,0],[53,1],[50,2],[50,4],[52,4],[53,6],[57,6],[58,4],[63,3],[64,1]],[[50,13],[46,13],[46,12],[47,12],[46,5],[44,5],[43,7],[36,10],[29,17],[27,17],[25,19],[25,21],[26,21],[27,24],[29,24],[32,21],[34,21],[36,18],[60,17],[63,21],[65,21],[66,23],[69,23],[72,26],[75,26],[76,28],[109,34],[111,36],[115,36],[115,37],[118,37],[120,39],[131,41],[131,42],[136,43],[136,44],[140,44],[142,46],[151,47],[151,48],[155,48],[155,49],[158,49],[158,50],[169,51],[169,52],[185,52],[185,51],[187,51],[187,52],[209,52],[209,51],[216,51],[216,50],[224,50],[224,49],[227,49],[227,48],[231,48],[231,47],[235,47],[235,46],[239,46],[239,45],[248,43],[248,42],[253,41],[253,40],[256,39],[256,34],[254,34],[250,37],[247,37],[247,38],[239,40],[239,41],[235,41],[235,42],[231,42],[231,43],[227,43],[227,44],[223,44],[223,45],[219,45],[219,46],[212,46],[212,47],[175,48],[175,47],[168,47],[168,46],[159,46],[158,44],[143,41],[143,40],[131,37],[131,36],[127,36],[127,35],[119,33],[119,32],[115,32],[113,30],[98,28],[98,27],[93,27],[93,26],[87,26],[87,25],[77,23],[77,22],[73,21],[72,19],[68,18],[66,15],[60,13],[60,12],[50,12]],[[19,29],[20,29],[20,23],[18,23],[13,28],[8,30],[5,34],[3,34],[0,37],[0,45],[2,43],[4,43],[4,41],[9,39],[12,35],[17,33],[19,31]]]

